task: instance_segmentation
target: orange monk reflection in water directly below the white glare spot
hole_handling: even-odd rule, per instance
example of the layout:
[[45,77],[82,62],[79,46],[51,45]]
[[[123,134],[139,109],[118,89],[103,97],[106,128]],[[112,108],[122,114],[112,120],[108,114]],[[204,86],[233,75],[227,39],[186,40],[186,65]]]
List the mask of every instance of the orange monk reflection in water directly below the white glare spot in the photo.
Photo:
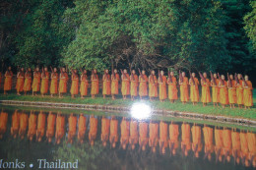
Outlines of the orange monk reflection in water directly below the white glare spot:
[[149,125],[146,122],[140,122],[139,124],[139,144],[142,150],[146,150],[146,146],[149,142],[148,133],[149,133]]

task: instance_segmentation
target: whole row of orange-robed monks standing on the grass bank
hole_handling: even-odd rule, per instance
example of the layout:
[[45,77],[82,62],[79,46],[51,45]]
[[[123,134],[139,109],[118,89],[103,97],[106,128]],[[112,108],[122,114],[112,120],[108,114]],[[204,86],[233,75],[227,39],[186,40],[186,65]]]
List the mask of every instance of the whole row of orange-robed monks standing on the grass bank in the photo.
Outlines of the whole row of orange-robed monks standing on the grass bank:
[[[178,99],[177,96],[177,85],[180,85],[180,100],[183,103],[186,103],[189,98],[196,104],[199,102],[199,88],[198,86],[202,85],[202,96],[201,101],[203,105],[212,102],[214,105],[221,103],[223,107],[229,104],[230,107],[234,107],[234,104],[238,104],[239,107],[242,105],[245,108],[250,108],[253,106],[253,96],[252,96],[252,84],[248,80],[248,76],[245,76],[243,79],[241,74],[228,75],[227,81],[224,80],[224,75],[220,76],[219,74],[211,73],[211,81],[207,78],[207,73],[203,75],[200,73],[201,81],[196,78],[196,74],[192,73],[190,79],[185,75],[185,72],[182,72],[179,75],[178,82],[174,77],[173,72],[168,73],[168,76],[164,76],[164,72],[160,71],[159,78],[155,75],[155,71],[151,72],[151,75],[148,77],[145,74],[145,71],[140,72],[139,77],[136,75],[135,70],[132,71],[131,75],[127,73],[127,70],[121,71],[121,80],[117,70],[115,69],[113,73],[108,73],[108,70],[104,71],[102,76],[102,94],[103,97],[106,95],[112,95],[112,99],[115,99],[115,95],[118,92],[118,83],[121,81],[121,93],[123,99],[126,99],[127,95],[131,95],[131,99],[139,96],[141,99],[143,97],[149,96],[152,100],[153,98],[159,97],[160,101],[164,101],[167,96],[171,102]],[[219,75],[219,78],[217,78]],[[8,90],[12,88],[12,77],[13,73],[11,67],[5,73],[5,83],[4,83],[4,93],[6,94]],[[49,79],[51,83],[49,86]],[[59,97],[63,96],[63,93],[67,92],[67,83],[68,83],[68,74],[65,68],[61,69],[60,74],[57,73],[57,69],[54,68],[50,74],[47,68],[44,68],[42,72],[39,71],[39,68],[36,68],[33,72],[32,80],[32,70],[28,69],[26,72],[22,68],[17,74],[17,94],[21,95],[21,91],[24,91],[25,94],[28,91],[32,90],[32,95],[37,91],[40,91],[42,95],[50,91],[51,96],[54,94],[59,94]],[[59,84],[58,84],[59,80]],[[77,70],[72,71],[71,76],[72,84],[70,92],[72,97],[75,97],[79,93],[79,80],[80,80],[80,94],[84,98],[85,95],[88,95],[89,88],[89,79],[87,76],[87,71],[84,70],[80,79],[77,73]],[[98,75],[96,70],[92,71],[91,77],[91,94],[95,98],[98,94]],[[189,86],[190,86],[190,96],[189,96]],[[212,97],[210,86],[212,86]],[[149,89],[149,90],[148,90]],[[168,90],[167,90],[168,89]]]

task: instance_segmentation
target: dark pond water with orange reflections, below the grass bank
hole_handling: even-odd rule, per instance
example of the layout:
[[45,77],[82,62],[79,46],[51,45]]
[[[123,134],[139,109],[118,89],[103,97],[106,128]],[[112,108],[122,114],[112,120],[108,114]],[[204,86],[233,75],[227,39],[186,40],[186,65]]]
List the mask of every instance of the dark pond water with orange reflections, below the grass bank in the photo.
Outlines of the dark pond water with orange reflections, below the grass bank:
[[3,108],[0,167],[231,170],[256,163],[249,128],[120,115]]

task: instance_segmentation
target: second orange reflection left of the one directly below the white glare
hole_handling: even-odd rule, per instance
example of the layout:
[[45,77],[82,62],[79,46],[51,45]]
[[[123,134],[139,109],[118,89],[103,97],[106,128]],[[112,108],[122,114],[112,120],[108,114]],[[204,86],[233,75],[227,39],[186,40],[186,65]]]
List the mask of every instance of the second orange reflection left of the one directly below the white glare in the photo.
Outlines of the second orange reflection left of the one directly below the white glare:
[[121,128],[121,138],[120,138],[120,144],[123,149],[126,148],[127,143],[129,142],[129,136],[130,136],[130,122],[123,117],[123,120],[120,124]]

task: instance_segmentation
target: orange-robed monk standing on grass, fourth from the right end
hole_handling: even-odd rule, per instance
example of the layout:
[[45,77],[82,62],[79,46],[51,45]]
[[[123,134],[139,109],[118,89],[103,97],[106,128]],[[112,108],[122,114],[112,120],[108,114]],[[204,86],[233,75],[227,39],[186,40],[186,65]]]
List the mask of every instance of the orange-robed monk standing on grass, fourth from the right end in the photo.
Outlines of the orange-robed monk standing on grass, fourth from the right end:
[[224,75],[222,75],[222,81],[219,83],[220,87],[220,99],[223,105],[223,108],[226,104],[228,104],[228,91],[227,91],[227,83],[224,81]]

